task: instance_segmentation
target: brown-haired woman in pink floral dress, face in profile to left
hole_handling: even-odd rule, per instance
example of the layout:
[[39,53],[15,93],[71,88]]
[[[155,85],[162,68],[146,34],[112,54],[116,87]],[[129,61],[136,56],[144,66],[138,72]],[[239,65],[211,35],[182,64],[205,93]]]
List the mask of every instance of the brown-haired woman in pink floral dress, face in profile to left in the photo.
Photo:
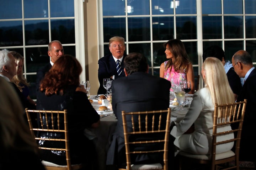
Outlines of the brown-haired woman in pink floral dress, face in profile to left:
[[[181,40],[172,39],[164,44],[168,61],[160,65],[160,77],[171,82],[171,86],[181,81],[191,82],[189,94],[194,94],[194,71],[188,58],[185,46]],[[170,91],[173,91],[171,88]]]

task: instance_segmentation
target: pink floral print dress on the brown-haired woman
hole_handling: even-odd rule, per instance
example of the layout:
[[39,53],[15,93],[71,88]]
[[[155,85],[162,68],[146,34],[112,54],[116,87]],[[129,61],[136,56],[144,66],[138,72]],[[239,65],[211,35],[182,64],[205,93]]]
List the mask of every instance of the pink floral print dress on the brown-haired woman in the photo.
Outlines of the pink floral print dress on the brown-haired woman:
[[[164,66],[166,67],[168,61],[164,62]],[[172,68],[172,69],[171,69]],[[174,67],[169,67],[164,72],[164,78],[166,80],[169,80],[171,82],[171,89],[170,91],[173,91],[174,84],[179,84],[181,81],[187,80],[187,74],[186,74],[186,68],[183,70],[183,73],[176,72],[174,70]]]

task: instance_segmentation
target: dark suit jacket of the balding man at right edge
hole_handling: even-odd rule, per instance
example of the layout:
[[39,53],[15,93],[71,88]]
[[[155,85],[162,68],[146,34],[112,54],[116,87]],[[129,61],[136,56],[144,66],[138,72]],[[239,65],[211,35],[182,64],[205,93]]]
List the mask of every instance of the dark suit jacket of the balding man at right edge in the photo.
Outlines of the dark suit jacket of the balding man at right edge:
[[246,79],[237,101],[247,99],[244,123],[240,142],[239,160],[255,161],[256,145],[256,69]]

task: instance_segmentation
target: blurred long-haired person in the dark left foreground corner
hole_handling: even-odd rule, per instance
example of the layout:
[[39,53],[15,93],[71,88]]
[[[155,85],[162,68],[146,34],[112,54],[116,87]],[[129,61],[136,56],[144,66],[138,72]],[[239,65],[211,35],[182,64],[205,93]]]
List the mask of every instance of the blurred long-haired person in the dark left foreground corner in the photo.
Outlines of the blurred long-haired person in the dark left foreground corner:
[[[44,170],[38,146],[24,119],[24,110],[12,86],[0,77],[0,169]],[[14,107],[15,106],[15,107]]]

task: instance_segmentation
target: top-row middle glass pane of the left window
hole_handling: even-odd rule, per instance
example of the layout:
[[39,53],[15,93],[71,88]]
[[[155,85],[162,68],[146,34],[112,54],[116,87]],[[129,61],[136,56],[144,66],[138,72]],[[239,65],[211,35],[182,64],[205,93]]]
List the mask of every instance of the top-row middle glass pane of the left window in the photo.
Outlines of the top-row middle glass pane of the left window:
[[48,17],[48,0],[40,0],[40,1],[24,0],[24,17],[25,18]]

